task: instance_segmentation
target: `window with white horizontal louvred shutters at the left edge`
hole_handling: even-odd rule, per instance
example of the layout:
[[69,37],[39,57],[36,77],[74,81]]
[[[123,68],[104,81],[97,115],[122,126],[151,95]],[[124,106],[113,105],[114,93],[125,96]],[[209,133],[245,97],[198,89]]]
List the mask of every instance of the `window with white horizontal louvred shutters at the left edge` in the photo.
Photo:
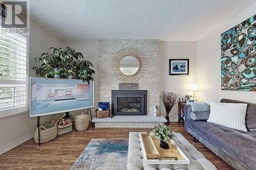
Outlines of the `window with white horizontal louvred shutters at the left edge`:
[[28,111],[27,40],[0,34],[0,116]]

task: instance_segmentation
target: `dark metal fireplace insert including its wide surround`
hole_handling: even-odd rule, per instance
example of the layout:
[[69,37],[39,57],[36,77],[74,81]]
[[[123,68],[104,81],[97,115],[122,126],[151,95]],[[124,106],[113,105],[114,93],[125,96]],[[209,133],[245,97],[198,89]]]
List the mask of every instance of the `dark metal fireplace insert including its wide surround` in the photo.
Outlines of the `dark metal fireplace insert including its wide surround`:
[[146,90],[112,90],[112,115],[146,115]]

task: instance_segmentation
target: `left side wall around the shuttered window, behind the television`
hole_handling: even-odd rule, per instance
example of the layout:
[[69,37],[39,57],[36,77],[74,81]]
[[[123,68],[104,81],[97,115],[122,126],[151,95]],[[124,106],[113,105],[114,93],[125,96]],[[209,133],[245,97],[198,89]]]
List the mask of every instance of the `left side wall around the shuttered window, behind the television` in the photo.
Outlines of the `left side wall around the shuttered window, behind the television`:
[[[61,41],[42,29],[34,22],[30,22],[30,76],[36,76],[32,70],[34,57],[41,56],[51,46],[61,46]],[[49,117],[41,118],[45,123]],[[9,118],[0,118],[0,154],[5,148],[11,148],[13,142],[34,132],[37,119],[29,118],[29,113],[20,114]]]

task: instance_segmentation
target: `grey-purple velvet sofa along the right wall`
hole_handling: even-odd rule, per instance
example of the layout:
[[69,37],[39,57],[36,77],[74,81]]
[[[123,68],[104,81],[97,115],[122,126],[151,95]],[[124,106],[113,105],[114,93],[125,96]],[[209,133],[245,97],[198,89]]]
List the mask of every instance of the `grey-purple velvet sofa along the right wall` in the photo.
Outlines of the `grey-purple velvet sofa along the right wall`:
[[[246,103],[222,99],[223,103]],[[239,131],[207,120],[193,120],[191,106],[185,106],[185,130],[202,142],[216,155],[238,170],[256,169],[256,104],[247,103],[246,126]]]

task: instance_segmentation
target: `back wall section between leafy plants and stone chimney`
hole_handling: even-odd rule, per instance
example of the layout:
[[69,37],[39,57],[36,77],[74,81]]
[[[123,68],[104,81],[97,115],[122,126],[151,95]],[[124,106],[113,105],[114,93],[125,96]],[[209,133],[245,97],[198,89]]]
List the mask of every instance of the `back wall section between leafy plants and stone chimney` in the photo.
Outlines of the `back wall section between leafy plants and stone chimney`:
[[[99,42],[98,41],[75,41],[75,42],[62,42],[63,47],[70,46],[83,54],[85,60],[90,61],[93,64],[95,74],[94,79],[94,108],[92,108],[92,116],[94,117],[95,109],[98,109],[99,102]],[[84,112],[86,110],[83,110]],[[81,113],[79,111],[73,111],[72,114]]]

